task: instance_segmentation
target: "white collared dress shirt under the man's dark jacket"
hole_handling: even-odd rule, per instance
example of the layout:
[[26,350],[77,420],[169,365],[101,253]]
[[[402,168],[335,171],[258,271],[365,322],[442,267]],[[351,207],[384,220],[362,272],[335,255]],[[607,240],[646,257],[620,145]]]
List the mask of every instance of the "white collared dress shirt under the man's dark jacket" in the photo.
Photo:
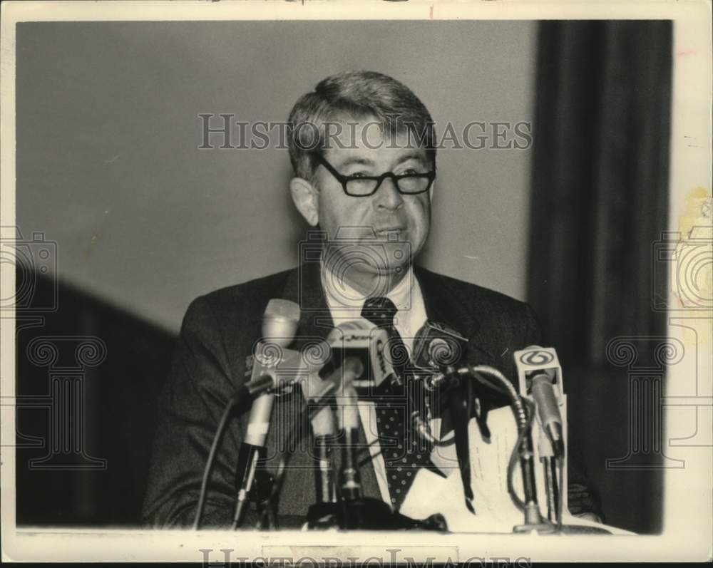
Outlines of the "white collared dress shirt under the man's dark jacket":
[[[356,291],[346,282],[339,281],[327,267],[322,264],[322,288],[327,298],[327,306],[332,314],[334,325],[344,321],[361,319],[361,308],[364,306],[366,296]],[[426,323],[426,306],[424,297],[421,294],[419,281],[414,277],[414,271],[409,267],[404,279],[396,285],[394,289],[386,294],[386,297],[394,302],[398,310],[394,316],[394,326],[401,334],[404,345],[409,353],[413,351],[414,336]],[[381,499],[391,505],[389,495],[389,484],[386,481],[386,466],[379,447],[379,434],[376,430],[376,408],[371,401],[359,401],[359,418],[364,425],[366,443],[369,444],[376,481],[379,483]],[[436,428],[440,426],[440,419],[431,420],[431,431],[438,432]]]

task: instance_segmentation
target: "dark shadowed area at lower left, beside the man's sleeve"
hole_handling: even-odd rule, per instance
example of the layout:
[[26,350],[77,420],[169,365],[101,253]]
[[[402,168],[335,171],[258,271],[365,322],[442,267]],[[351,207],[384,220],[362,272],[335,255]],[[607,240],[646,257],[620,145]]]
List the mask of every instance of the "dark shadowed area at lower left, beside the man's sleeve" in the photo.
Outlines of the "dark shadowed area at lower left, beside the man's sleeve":
[[40,277],[42,296],[58,309],[17,316],[16,523],[137,526],[175,337]]

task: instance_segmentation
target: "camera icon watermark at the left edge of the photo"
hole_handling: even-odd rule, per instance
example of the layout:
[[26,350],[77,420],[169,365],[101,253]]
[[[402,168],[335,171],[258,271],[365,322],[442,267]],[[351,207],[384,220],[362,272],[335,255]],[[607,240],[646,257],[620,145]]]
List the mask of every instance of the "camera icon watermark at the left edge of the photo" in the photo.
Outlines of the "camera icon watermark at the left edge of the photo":
[[[56,242],[47,240],[42,232],[24,239],[19,227],[2,227],[0,262],[4,269],[15,271],[15,288],[0,295],[0,311],[36,314],[58,309]],[[38,293],[39,277],[51,279],[48,293]]]

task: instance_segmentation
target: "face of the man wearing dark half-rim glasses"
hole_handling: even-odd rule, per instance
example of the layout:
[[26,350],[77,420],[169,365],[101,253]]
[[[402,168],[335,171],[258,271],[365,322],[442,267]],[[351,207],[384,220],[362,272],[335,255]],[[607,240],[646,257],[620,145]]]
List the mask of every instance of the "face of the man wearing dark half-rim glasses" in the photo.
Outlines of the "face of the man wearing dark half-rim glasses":
[[[408,135],[396,135],[396,143],[389,134],[384,140],[374,123],[361,123],[355,129],[345,125],[339,138],[344,148],[332,143],[323,157],[342,175],[400,175],[428,172],[433,167],[425,150],[407,146]],[[336,264],[340,272],[393,274],[408,267],[424,246],[431,227],[429,192],[402,195],[394,180],[386,178],[374,195],[352,197],[322,165],[313,185],[319,226],[329,238],[326,259],[331,268]]]

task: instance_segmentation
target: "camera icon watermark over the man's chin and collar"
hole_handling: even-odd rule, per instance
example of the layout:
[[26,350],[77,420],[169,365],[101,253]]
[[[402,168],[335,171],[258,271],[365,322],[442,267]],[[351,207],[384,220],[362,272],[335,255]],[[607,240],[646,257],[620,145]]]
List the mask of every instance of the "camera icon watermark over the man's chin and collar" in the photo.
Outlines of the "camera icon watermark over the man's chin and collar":
[[[324,231],[309,231],[307,239],[299,242],[298,254],[299,304],[306,311],[315,309],[304,301],[308,292],[304,275],[310,264],[320,265],[322,287],[332,305],[353,309],[361,307],[365,297],[386,296],[394,279],[407,274],[412,259],[411,243],[400,231],[380,231],[368,225],[339,227],[331,239]],[[350,286],[353,271],[374,274],[373,289],[357,291]],[[409,293],[400,311],[411,309],[411,288],[406,286]]]

